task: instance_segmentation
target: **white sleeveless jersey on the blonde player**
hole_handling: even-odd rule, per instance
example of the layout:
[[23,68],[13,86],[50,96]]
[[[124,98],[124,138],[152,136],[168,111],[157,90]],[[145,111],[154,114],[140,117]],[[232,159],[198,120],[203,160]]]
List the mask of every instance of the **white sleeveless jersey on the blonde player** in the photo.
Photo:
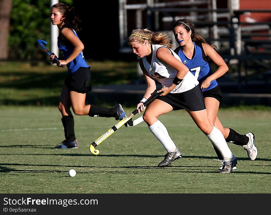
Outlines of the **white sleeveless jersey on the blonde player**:
[[[161,47],[166,47],[163,45],[151,45],[152,47],[152,62],[151,65],[146,59],[146,56],[142,58],[143,65],[147,70],[148,74],[154,78],[156,81],[160,82],[162,86],[169,87],[172,85],[173,79],[176,77],[177,70],[166,63],[161,62],[156,57],[156,51]],[[177,58],[181,63],[180,57],[170,48],[168,48],[172,55]],[[178,84],[170,93],[182,93],[193,89],[197,86],[199,82],[195,76],[188,70],[188,73],[184,76],[183,81]]]

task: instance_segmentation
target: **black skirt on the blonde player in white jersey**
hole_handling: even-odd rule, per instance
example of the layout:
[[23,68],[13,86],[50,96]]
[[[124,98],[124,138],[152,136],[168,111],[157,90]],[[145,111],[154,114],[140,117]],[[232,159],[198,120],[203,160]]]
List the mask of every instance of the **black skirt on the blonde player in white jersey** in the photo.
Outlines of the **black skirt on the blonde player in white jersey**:
[[183,93],[168,93],[165,96],[158,96],[157,99],[170,104],[173,110],[198,111],[206,109],[200,85]]

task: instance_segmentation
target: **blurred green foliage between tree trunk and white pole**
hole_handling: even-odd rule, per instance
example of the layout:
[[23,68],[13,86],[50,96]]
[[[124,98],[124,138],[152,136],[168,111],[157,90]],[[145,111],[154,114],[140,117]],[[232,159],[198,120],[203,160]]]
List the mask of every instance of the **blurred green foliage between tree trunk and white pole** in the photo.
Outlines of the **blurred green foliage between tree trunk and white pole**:
[[[71,6],[72,0],[61,3]],[[48,41],[50,47],[51,1],[13,0],[10,17],[9,58],[34,60],[44,53],[37,44],[37,39]]]

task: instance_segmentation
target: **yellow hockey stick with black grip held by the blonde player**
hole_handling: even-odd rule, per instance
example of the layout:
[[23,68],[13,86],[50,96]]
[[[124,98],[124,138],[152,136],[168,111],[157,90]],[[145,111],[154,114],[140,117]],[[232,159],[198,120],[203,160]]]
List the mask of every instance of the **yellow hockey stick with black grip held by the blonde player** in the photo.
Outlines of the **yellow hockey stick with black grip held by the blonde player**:
[[[162,92],[157,93],[152,96],[148,101],[144,102],[143,105],[146,107],[148,106],[153,100],[155,100]],[[101,144],[105,139],[110,137],[113,133],[115,133],[121,126],[123,126],[126,122],[128,122],[132,117],[134,117],[138,113],[138,110],[135,109],[132,113],[130,113],[127,117],[119,121],[117,124],[112,126],[109,130],[107,130],[105,133],[103,133],[98,139],[96,139],[94,142],[92,142],[89,146],[89,150],[92,154],[98,155],[100,151],[98,149],[95,149],[99,144]]]

